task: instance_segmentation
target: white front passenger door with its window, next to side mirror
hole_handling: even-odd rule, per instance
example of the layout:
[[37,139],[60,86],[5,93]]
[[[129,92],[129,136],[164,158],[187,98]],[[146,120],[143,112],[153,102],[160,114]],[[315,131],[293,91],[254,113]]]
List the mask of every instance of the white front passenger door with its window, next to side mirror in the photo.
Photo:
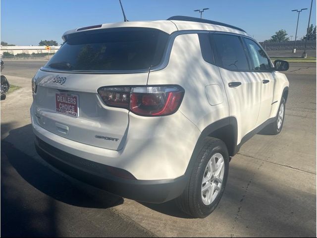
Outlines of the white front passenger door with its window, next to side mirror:
[[257,125],[261,125],[265,120],[269,119],[271,115],[275,85],[275,78],[271,71],[273,65],[262,48],[254,40],[244,37],[244,42],[250,55],[253,77],[262,81],[261,107],[257,121]]

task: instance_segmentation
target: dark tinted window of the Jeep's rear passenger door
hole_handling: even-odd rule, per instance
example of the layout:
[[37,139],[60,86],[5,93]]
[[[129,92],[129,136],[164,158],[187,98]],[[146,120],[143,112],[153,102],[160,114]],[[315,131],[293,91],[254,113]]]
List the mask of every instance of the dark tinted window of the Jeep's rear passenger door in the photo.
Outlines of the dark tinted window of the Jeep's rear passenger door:
[[216,63],[229,70],[250,70],[246,53],[238,36],[212,34],[217,49]]

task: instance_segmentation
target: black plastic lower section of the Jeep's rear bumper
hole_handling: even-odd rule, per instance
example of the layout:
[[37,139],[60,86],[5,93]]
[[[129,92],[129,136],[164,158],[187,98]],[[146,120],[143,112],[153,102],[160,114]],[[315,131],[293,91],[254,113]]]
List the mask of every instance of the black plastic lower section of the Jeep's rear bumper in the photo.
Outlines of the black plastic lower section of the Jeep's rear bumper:
[[188,181],[186,176],[163,180],[124,179],[108,173],[109,166],[59,150],[38,137],[35,147],[44,160],[61,172],[110,193],[137,201],[163,203],[172,200],[183,192]]

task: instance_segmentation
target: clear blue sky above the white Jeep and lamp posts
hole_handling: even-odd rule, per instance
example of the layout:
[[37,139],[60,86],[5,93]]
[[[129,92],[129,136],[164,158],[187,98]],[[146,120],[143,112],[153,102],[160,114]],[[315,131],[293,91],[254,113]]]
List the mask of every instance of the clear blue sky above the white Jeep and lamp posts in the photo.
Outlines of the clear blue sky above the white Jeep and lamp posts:
[[[306,34],[311,0],[121,0],[130,21],[164,20],[173,15],[200,17],[240,27],[261,42],[276,31],[295,38]],[[62,43],[70,29],[123,21],[119,0],[0,0],[0,39],[8,44],[37,46],[41,40]],[[311,23],[316,25],[316,0]]]

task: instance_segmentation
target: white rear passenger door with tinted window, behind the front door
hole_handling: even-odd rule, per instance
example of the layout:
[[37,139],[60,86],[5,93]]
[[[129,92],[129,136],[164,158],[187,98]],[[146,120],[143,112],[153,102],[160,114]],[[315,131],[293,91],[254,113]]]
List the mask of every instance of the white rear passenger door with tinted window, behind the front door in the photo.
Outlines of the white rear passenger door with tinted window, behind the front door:
[[240,143],[243,136],[256,126],[262,81],[251,72],[240,36],[214,33],[211,34],[211,45],[227,93],[230,116],[237,119],[237,142]]

